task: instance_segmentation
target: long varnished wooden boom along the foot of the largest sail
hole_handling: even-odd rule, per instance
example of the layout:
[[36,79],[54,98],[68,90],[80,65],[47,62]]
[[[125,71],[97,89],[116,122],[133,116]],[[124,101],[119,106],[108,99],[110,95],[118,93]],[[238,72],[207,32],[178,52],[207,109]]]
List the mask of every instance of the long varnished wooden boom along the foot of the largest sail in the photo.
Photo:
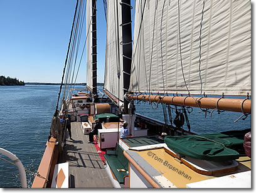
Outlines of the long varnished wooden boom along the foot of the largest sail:
[[[251,113],[250,99],[236,98],[211,98],[211,97],[193,97],[193,96],[159,96],[159,95],[127,95],[129,100],[141,100],[143,102],[165,103],[168,105],[179,105],[188,107],[200,107],[215,109],[218,102],[218,109],[232,112]],[[200,105],[198,106],[198,101]]]

